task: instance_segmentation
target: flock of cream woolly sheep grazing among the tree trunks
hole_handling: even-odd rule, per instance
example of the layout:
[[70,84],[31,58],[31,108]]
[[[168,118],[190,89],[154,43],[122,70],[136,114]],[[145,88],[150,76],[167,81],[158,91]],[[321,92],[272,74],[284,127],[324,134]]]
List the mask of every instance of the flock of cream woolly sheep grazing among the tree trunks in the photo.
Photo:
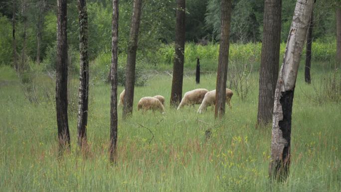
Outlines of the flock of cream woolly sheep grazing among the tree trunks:
[[[123,106],[124,103],[124,95],[125,90],[120,94],[119,106]],[[226,103],[231,108],[231,98],[233,92],[230,89],[226,89]],[[198,113],[202,113],[208,106],[215,105],[215,89],[212,91],[208,91],[207,89],[194,89],[186,92],[181,99],[177,110],[182,108],[185,105],[195,105],[199,104],[200,107],[198,109]],[[143,97],[140,99],[138,103],[138,110],[142,109],[143,111],[147,110],[157,110],[161,113],[165,113],[165,97],[161,95],[157,95],[154,97]]]

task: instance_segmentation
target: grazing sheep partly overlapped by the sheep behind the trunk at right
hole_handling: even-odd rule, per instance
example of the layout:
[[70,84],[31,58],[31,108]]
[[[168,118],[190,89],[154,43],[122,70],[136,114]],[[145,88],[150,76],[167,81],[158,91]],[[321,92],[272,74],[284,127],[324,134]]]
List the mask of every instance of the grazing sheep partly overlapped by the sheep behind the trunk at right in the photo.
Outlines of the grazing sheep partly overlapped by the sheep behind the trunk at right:
[[181,99],[177,110],[179,110],[184,105],[194,105],[194,104],[201,104],[205,94],[208,92],[207,89],[194,89],[191,91],[186,92]]

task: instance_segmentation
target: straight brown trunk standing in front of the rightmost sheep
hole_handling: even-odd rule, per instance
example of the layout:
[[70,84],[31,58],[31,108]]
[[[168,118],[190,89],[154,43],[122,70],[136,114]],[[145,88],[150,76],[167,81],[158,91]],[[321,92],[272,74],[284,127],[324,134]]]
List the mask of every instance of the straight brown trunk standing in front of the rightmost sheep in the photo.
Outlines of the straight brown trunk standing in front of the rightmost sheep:
[[228,52],[230,46],[231,0],[221,0],[221,33],[215,94],[215,118],[225,114]]

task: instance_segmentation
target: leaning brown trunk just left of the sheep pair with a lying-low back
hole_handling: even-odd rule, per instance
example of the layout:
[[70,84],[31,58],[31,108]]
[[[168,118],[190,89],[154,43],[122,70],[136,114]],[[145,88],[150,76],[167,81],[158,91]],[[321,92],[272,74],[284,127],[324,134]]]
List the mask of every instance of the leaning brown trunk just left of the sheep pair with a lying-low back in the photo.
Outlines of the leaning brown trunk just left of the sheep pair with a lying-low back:
[[138,46],[139,27],[141,20],[142,0],[134,0],[132,25],[128,45],[127,69],[126,69],[126,94],[124,98],[123,118],[132,115],[134,103],[135,64],[136,50]]

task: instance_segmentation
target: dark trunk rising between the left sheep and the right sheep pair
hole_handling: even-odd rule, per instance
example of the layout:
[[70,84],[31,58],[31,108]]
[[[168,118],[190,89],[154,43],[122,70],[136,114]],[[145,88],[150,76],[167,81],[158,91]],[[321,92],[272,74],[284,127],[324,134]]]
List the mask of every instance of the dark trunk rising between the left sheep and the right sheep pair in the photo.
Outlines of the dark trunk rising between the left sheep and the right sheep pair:
[[173,64],[173,79],[171,82],[171,106],[177,107],[182,97],[183,60],[185,44],[185,0],[176,0],[176,24],[175,24],[175,55]]

